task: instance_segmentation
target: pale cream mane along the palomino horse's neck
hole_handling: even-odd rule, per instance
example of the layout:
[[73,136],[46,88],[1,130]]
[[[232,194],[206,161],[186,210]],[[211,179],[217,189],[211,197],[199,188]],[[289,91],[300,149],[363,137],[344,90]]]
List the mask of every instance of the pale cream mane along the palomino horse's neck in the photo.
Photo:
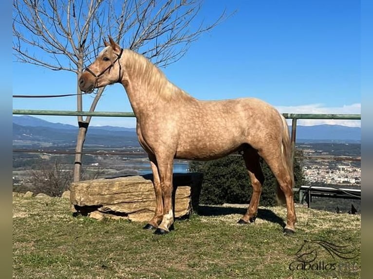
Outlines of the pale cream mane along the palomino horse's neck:
[[143,55],[125,49],[123,56],[125,64],[131,69],[131,73],[141,77],[142,82],[154,90],[160,98],[166,100],[174,98],[192,99],[184,90],[168,81],[166,75]]

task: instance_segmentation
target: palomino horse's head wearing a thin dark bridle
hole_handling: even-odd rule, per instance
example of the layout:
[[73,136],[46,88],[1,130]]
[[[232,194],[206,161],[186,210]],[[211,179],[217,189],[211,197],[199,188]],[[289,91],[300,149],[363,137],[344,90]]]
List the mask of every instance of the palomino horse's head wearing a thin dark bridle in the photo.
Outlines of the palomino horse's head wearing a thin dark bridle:
[[123,49],[111,37],[109,37],[109,43],[104,41],[104,44],[105,49],[98,54],[97,59],[83,71],[79,78],[80,90],[84,92],[120,82],[122,79],[120,58]]

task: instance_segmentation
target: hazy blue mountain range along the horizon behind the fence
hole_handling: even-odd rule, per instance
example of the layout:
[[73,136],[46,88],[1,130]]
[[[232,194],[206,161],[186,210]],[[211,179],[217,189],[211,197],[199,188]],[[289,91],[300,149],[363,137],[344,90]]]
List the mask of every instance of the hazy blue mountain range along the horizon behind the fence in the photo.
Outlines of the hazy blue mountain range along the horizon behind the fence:
[[[77,126],[32,116],[13,116],[13,145],[74,146]],[[291,130],[291,127],[290,127]],[[297,142],[359,142],[361,128],[341,125],[297,126]],[[86,147],[139,146],[135,128],[90,126]]]

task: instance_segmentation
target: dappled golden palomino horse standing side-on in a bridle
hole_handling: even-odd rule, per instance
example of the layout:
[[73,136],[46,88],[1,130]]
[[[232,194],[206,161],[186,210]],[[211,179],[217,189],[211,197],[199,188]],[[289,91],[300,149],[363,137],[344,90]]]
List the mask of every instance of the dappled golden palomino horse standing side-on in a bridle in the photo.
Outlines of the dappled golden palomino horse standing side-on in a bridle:
[[173,159],[210,160],[241,151],[253,194],[239,223],[255,221],[264,176],[262,157],[278,181],[278,200],[286,203],[285,233],[295,231],[293,162],[285,119],[254,98],[199,101],[168,81],[144,56],[122,49],[112,38],[84,70],[79,87],[121,83],[136,116],[136,132],[149,155],[156,199],[154,216],[144,228],[164,234],[173,228]]

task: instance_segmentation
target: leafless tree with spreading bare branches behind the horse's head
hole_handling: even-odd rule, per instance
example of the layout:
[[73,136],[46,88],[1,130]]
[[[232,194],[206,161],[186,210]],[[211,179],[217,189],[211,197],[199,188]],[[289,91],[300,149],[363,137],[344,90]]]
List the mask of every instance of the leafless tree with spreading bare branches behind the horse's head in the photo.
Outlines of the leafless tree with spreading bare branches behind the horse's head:
[[[13,54],[20,62],[72,71],[78,81],[84,66],[97,56],[103,36],[111,35],[165,67],[226,18],[224,11],[214,22],[193,28],[201,5],[202,0],[13,0]],[[97,90],[90,111],[104,89]],[[78,86],[76,90],[77,111],[82,111],[82,93]],[[77,120],[74,181],[81,178],[81,152],[91,117]]]

